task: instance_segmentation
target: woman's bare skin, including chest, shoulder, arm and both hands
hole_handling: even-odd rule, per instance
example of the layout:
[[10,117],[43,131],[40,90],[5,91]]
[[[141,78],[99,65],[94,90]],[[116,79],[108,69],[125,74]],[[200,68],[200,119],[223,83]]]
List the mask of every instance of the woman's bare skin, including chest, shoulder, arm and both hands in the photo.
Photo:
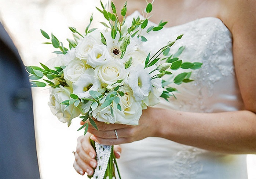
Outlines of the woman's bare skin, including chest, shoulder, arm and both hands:
[[[116,0],[121,9],[125,1]],[[142,12],[145,0],[128,0],[128,14]],[[181,144],[214,152],[230,154],[256,153],[256,1],[245,0],[155,0],[150,20],[168,21],[176,26],[197,18],[219,18],[233,35],[235,73],[245,109],[223,113],[191,113],[148,107],[143,110],[138,126],[96,122],[98,131],[89,127],[89,133],[78,138],[74,161],[75,170],[93,174],[96,153],[89,138],[100,144],[116,145],[120,157],[123,144],[146,137],[162,137]],[[114,130],[118,132],[118,139]],[[93,134],[93,135],[92,135]]]

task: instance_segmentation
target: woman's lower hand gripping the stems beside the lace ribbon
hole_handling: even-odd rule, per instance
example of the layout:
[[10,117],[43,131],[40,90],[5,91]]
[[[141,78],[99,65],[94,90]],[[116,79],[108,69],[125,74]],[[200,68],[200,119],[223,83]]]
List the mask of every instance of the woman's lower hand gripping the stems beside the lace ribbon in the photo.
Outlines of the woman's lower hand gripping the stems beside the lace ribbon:
[[[73,167],[80,175],[84,175],[85,172],[87,172],[89,176],[92,175],[94,173],[94,168],[97,166],[97,161],[95,160],[96,152],[90,143],[91,135],[92,134],[87,132],[85,136],[77,138]],[[114,146],[114,154],[117,159],[120,158],[121,147],[119,145]]]

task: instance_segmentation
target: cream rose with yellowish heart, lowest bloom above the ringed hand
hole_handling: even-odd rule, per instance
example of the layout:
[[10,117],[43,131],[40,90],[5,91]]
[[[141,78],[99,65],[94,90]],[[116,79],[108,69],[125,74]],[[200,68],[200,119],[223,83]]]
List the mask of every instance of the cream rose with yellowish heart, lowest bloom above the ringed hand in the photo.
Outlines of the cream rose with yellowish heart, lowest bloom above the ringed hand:
[[118,95],[121,111],[113,107],[114,113],[116,113],[116,123],[138,125],[142,115],[141,102],[135,100],[132,89],[128,86],[122,86],[119,90],[124,92],[124,96]]

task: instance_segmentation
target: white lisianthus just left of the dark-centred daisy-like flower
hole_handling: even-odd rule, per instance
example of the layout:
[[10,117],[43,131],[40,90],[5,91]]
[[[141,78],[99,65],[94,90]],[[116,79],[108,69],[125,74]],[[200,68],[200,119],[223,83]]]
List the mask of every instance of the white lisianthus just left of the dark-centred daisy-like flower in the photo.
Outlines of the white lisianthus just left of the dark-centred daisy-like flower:
[[110,55],[106,45],[95,45],[88,53],[87,64],[93,68],[107,64],[110,61]]

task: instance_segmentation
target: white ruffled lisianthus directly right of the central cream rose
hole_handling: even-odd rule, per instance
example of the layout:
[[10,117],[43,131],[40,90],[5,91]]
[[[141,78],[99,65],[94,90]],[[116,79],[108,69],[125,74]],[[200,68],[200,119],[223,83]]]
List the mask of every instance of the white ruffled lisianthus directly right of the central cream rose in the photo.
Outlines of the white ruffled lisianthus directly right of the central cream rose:
[[128,85],[134,92],[136,101],[145,99],[151,91],[151,78],[142,65],[131,68],[128,76]]

